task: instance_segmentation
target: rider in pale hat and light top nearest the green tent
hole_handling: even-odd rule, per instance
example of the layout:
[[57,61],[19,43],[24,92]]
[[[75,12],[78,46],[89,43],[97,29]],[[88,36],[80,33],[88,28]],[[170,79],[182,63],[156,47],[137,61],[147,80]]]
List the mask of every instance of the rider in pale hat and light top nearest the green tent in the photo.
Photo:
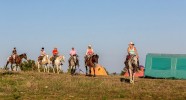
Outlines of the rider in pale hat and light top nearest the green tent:
[[131,55],[135,55],[138,58],[138,66],[139,66],[139,56],[136,47],[134,46],[135,44],[133,42],[129,43],[129,47],[127,49],[128,55],[126,57],[125,65],[128,62],[129,58]]

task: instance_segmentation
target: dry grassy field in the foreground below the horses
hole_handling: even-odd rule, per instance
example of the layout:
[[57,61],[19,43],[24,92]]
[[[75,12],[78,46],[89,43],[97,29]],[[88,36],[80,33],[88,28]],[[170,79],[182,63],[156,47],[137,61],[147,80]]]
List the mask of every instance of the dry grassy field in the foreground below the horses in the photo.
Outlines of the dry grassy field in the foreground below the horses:
[[0,100],[186,100],[186,80],[0,72]]

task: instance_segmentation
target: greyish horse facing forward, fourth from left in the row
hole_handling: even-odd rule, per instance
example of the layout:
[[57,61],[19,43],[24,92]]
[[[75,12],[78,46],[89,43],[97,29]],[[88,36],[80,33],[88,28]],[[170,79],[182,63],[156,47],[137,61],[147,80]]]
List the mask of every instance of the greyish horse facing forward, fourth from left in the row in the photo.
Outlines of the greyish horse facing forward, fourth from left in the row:
[[69,67],[71,69],[71,75],[75,74],[76,66],[79,67],[78,55],[74,55],[69,58]]

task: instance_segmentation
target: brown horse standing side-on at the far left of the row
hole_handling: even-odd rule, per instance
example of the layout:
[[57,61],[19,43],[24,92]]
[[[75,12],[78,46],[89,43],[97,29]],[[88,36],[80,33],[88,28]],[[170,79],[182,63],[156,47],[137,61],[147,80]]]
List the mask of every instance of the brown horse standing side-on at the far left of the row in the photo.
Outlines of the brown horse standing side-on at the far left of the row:
[[20,64],[21,64],[23,58],[27,60],[27,55],[26,55],[26,53],[17,56],[17,57],[15,58],[15,61],[14,61],[14,59],[13,59],[12,56],[9,57],[9,59],[8,59],[8,61],[7,61],[7,63],[6,63],[5,69],[7,69],[8,64],[11,63],[11,70],[13,71],[12,65],[15,64],[15,65],[16,65],[16,71],[17,71],[17,67],[18,67],[18,66],[21,67]]

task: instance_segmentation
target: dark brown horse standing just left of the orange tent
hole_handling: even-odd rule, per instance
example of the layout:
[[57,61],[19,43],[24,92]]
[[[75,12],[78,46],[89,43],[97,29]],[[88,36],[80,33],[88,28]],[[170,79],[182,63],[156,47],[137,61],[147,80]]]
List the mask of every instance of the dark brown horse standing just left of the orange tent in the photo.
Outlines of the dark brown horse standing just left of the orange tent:
[[94,77],[95,75],[95,67],[96,64],[98,63],[99,56],[97,54],[92,55],[90,58],[85,58],[85,67],[86,67],[86,75],[88,75],[88,67],[89,67],[89,75],[91,75],[91,67],[94,70]]

